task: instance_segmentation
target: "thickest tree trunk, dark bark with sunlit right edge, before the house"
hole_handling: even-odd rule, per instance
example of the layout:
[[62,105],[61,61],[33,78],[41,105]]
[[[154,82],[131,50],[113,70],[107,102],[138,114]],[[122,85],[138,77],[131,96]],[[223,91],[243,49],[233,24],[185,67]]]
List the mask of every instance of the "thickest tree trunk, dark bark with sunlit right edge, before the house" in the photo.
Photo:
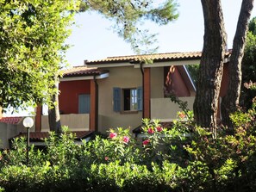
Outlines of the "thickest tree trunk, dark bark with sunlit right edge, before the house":
[[213,136],[215,136],[227,38],[221,0],[201,0],[201,2],[204,17],[204,40],[194,114],[197,125],[212,128]]

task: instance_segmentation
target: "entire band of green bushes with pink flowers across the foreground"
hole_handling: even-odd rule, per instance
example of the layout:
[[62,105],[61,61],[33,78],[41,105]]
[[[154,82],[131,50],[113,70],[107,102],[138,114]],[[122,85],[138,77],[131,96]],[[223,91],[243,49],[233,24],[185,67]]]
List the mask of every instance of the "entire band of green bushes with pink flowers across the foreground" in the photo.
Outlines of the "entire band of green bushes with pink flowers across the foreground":
[[[142,140],[128,129],[109,130],[78,145],[75,135],[51,133],[46,149],[32,146],[26,164],[25,139],[2,152],[4,191],[255,191],[255,106],[231,115],[213,137],[192,114],[178,113],[172,127],[143,120]],[[146,142],[147,141],[147,142]]]

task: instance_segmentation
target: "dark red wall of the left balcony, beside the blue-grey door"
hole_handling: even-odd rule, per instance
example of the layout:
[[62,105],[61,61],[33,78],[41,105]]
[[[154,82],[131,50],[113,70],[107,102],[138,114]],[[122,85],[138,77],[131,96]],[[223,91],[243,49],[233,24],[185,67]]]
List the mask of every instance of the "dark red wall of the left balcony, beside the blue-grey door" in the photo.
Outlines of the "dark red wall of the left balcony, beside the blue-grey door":
[[90,94],[90,80],[59,83],[59,110],[62,114],[78,114],[78,96]]

